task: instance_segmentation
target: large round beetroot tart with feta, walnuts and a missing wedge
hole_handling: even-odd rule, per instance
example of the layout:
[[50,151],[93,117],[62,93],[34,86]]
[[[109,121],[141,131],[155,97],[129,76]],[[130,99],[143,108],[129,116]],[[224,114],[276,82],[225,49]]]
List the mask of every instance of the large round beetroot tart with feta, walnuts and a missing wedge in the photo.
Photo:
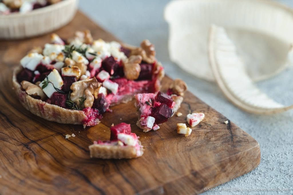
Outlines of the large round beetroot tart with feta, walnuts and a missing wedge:
[[140,47],[93,40],[88,30],[72,39],[52,34],[14,69],[13,86],[21,104],[46,120],[96,125],[109,106],[138,93],[156,93],[164,77],[154,45]]

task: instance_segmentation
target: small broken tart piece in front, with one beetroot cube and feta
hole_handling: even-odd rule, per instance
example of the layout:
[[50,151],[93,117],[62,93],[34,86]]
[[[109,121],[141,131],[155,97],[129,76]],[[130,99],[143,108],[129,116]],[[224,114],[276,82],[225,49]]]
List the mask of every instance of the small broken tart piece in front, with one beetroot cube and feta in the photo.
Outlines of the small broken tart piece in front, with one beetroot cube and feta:
[[110,141],[94,141],[88,148],[91,158],[137,158],[144,153],[139,137],[124,122],[110,128]]

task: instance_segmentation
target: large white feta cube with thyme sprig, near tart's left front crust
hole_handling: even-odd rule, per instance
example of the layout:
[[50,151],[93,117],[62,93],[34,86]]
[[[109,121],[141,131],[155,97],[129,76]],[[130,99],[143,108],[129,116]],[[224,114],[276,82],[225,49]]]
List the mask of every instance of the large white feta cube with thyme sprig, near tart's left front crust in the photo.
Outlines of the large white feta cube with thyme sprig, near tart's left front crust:
[[[49,97],[51,98],[52,97],[52,94],[54,92],[57,92],[56,88],[58,89],[61,89],[62,88],[62,85],[63,85],[63,80],[62,80],[62,77],[60,76],[59,72],[56,70],[56,69],[53,69],[53,71],[47,76],[48,77],[48,80],[49,80],[49,84],[47,85],[47,87],[45,87],[43,89],[43,92]],[[43,82],[46,82],[47,79],[43,80],[39,86],[42,87],[44,84]],[[54,86],[53,86],[54,85]]]

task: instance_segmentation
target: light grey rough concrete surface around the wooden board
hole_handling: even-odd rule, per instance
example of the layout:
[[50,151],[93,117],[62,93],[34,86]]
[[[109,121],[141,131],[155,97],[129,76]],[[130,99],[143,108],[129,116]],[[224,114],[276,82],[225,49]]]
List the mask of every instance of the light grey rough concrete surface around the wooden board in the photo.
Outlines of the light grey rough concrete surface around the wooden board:
[[[282,2],[293,6],[293,0]],[[290,191],[285,194],[293,194],[293,111],[268,116],[246,113],[231,105],[216,84],[180,70],[168,56],[168,25],[163,19],[163,9],[167,3],[167,0],[80,0],[79,8],[124,42],[139,45],[143,39],[149,39],[155,44],[157,58],[163,63],[169,76],[185,80],[193,94],[259,142],[261,162],[258,168],[214,189],[218,191],[207,191],[206,194],[280,193],[251,191],[270,188],[289,188]],[[288,69],[257,85],[276,101],[290,105],[293,104],[292,75],[293,69]],[[230,191],[223,191],[224,188]],[[241,191],[242,189],[246,191]]]

